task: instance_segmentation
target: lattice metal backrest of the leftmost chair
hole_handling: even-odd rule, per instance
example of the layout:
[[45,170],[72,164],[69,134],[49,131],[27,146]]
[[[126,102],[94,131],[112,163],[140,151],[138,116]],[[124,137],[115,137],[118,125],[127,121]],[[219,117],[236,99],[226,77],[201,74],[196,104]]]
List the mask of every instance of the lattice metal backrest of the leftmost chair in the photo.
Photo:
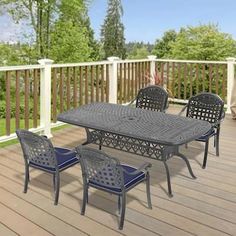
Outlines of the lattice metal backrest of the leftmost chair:
[[36,165],[55,168],[57,159],[49,139],[28,130],[17,130],[25,161]]

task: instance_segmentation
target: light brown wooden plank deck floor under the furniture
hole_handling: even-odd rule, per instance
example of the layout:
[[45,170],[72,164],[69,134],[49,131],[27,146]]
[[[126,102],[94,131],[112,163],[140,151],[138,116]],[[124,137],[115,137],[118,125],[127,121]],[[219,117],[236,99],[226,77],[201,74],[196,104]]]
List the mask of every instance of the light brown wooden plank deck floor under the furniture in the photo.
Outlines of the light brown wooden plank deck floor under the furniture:
[[[172,107],[177,112],[178,107]],[[83,129],[67,127],[54,133],[53,143],[74,147],[85,139]],[[103,150],[138,166],[144,159],[112,149]],[[52,178],[30,172],[28,193],[23,193],[24,163],[20,146],[0,149],[0,235],[236,235],[236,121],[226,117],[221,132],[220,157],[211,142],[208,165],[201,168],[203,144],[192,142],[182,152],[189,157],[196,180],[185,163],[169,161],[174,197],[166,194],[161,162],[150,160],[153,209],[146,207],[145,185],[128,194],[124,229],[118,230],[117,199],[91,189],[85,216],[80,215],[82,178],[77,165],[62,172],[59,205],[53,205]]]

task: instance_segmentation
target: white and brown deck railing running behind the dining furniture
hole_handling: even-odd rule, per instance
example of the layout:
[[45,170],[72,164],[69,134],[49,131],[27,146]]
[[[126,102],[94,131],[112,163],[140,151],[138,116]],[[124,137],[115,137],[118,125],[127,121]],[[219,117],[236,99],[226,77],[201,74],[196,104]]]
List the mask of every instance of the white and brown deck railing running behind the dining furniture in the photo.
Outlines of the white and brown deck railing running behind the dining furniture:
[[119,60],[0,67],[0,142],[15,138],[19,128],[50,136],[61,123],[57,115],[91,102],[127,103],[140,88],[159,84],[170,100],[186,103],[202,91],[218,94],[229,104],[235,59],[227,61]]

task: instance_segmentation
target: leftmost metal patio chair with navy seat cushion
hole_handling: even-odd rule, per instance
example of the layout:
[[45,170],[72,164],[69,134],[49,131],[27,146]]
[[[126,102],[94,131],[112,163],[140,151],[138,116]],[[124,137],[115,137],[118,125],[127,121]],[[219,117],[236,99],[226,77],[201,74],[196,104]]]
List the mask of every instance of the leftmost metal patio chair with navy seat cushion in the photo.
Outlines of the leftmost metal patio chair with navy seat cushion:
[[29,183],[29,167],[33,167],[53,175],[54,205],[58,204],[60,191],[60,172],[79,162],[74,151],[67,148],[53,147],[46,136],[40,136],[28,130],[16,130],[25,162],[24,193]]

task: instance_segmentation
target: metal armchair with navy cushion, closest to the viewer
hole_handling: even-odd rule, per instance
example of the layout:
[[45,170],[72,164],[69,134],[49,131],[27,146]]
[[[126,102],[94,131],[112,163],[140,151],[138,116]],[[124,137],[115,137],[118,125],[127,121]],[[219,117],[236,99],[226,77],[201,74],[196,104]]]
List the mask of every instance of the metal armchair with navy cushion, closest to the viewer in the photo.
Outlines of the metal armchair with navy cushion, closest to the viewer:
[[144,163],[135,168],[126,164],[120,164],[119,160],[108,156],[100,150],[85,146],[76,148],[80,159],[83,177],[83,203],[81,215],[85,214],[88,202],[88,188],[94,187],[118,196],[118,211],[120,213],[119,229],[123,229],[126,193],[141,182],[146,182],[148,207],[152,208],[150,196],[150,177],[148,169],[150,163]]

